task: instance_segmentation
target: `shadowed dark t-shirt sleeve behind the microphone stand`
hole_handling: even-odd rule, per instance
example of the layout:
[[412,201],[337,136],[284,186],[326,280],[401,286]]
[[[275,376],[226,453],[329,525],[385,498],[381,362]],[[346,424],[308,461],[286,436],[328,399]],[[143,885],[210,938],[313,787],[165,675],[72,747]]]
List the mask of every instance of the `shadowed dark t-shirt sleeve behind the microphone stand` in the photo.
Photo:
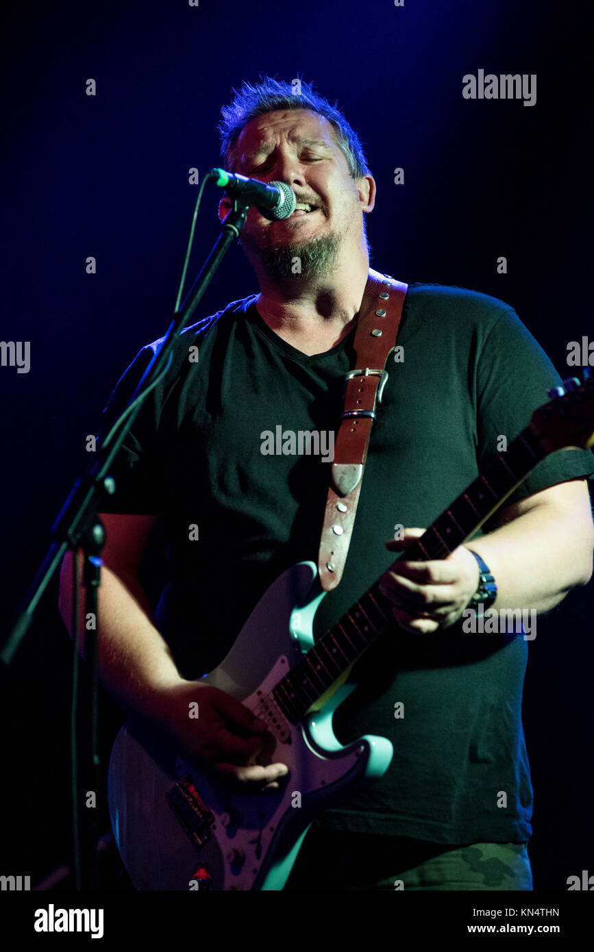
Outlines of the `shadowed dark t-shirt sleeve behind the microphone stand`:
[[[103,411],[101,442],[128,406],[129,398],[153,355],[153,345],[143,347],[118,381]],[[156,387],[146,396],[109,469],[109,475],[115,480],[116,491],[113,495],[107,492],[102,494],[99,512],[158,515],[164,511],[162,453],[158,434],[161,393],[161,387]]]

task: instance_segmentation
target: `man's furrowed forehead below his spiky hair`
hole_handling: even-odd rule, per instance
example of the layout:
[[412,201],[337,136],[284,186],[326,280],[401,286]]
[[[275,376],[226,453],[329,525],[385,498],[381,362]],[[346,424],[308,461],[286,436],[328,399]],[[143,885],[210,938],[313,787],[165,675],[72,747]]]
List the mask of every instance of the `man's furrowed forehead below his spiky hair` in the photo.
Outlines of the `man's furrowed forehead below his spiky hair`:
[[256,116],[242,129],[235,150],[241,161],[266,154],[281,141],[340,152],[332,125],[310,109],[279,109]]

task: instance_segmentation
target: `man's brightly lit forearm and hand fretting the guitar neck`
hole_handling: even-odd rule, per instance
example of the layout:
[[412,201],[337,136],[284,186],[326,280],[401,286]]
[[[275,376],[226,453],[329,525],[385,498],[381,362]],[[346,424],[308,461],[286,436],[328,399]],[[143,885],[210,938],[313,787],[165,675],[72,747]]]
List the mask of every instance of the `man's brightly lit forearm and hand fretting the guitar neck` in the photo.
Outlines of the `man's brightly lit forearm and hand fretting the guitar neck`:
[[[406,530],[403,551],[423,534]],[[493,607],[550,611],[575,585],[592,577],[594,524],[585,480],[550,486],[504,508],[499,527],[460,545],[442,562],[399,559],[381,589],[394,602],[394,617],[412,631],[431,632],[457,622],[478,587],[479,567],[468,548],[489,566],[497,583]]]

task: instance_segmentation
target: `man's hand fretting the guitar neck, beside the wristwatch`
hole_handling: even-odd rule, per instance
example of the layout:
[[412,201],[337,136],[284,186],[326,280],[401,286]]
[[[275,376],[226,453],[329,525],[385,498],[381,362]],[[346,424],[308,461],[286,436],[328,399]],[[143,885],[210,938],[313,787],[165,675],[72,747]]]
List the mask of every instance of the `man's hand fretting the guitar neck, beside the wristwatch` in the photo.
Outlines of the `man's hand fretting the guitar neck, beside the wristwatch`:
[[[405,529],[405,538],[387,542],[390,552],[402,552],[425,529]],[[479,565],[464,545],[438,562],[406,562],[402,556],[380,579],[380,591],[391,602],[394,618],[407,631],[429,634],[462,617],[479,586]]]

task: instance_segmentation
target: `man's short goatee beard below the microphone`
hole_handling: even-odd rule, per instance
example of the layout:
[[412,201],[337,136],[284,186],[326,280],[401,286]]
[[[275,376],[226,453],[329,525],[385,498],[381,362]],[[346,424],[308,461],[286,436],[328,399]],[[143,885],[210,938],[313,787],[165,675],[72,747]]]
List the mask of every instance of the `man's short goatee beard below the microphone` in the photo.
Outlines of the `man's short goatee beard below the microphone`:
[[272,280],[318,278],[327,275],[336,264],[342,241],[342,234],[330,232],[305,241],[279,242],[258,248],[257,253]]

